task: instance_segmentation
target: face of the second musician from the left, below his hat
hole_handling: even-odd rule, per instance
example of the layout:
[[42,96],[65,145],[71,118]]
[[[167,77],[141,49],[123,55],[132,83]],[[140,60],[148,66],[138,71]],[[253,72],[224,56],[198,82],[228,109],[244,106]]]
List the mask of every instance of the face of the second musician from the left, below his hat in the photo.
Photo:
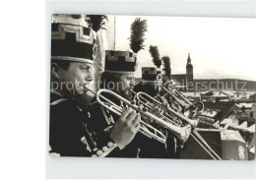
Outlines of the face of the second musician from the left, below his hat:
[[133,90],[134,86],[134,73],[121,75],[116,90],[120,95],[130,98],[131,90]]

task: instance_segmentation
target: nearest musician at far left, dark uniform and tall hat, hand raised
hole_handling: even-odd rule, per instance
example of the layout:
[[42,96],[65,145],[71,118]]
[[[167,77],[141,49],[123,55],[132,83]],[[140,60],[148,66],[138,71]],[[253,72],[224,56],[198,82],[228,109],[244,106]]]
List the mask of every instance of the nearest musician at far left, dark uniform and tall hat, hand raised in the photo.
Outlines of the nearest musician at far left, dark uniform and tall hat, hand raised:
[[108,138],[96,144],[90,113],[76,100],[93,80],[95,37],[82,15],[53,15],[51,24],[50,152],[100,156],[125,148],[140,129],[140,116],[124,110]]

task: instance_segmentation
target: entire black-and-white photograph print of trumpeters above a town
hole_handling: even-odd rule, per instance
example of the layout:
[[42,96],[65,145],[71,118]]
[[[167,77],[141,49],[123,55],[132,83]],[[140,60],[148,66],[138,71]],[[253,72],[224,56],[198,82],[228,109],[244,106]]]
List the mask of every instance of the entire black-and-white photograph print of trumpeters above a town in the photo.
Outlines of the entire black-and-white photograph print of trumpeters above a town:
[[247,19],[53,14],[51,158],[254,160]]

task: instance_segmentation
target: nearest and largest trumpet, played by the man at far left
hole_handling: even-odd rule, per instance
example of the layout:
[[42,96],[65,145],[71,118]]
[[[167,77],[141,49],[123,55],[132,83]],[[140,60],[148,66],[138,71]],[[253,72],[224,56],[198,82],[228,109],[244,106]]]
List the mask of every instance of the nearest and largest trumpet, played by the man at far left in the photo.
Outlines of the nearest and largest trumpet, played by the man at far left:
[[[133,108],[137,112],[140,112],[142,114],[142,120],[141,120],[141,128],[139,130],[140,133],[143,135],[155,139],[159,141],[160,143],[165,143],[166,142],[166,136],[164,136],[160,130],[157,128],[151,126],[149,123],[146,122],[146,119],[151,119],[154,121],[156,124],[160,125],[160,127],[171,131],[173,134],[177,136],[177,138],[180,139],[181,142],[186,142],[188,139],[188,135],[191,132],[191,126],[185,126],[185,127],[177,127],[175,125],[172,125],[169,122],[166,122],[156,115],[150,113],[149,111],[142,110],[138,105],[131,103],[129,100],[126,98],[122,97],[121,95],[111,91],[111,90],[98,90],[97,92],[91,89],[88,89],[96,94],[96,101],[103,106],[104,108],[108,109],[110,112],[121,116],[123,108],[116,104],[115,100],[110,100],[109,96],[112,98],[115,98],[120,101],[120,103],[126,104],[127,106]],[[105,94],[105,95],[104,95]],[[107,97],[106,97],[107,96]]]

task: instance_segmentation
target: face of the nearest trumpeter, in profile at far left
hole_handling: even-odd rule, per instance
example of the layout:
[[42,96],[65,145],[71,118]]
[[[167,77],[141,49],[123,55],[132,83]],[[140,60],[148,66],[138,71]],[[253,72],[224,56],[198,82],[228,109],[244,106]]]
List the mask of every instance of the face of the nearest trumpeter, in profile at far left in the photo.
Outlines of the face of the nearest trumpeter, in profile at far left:
[[68,70],[60,68],[59,76],[62,92],[77,97],[85,93],[85,86],[93,81],[93,65],[71,62]]

